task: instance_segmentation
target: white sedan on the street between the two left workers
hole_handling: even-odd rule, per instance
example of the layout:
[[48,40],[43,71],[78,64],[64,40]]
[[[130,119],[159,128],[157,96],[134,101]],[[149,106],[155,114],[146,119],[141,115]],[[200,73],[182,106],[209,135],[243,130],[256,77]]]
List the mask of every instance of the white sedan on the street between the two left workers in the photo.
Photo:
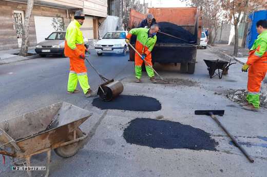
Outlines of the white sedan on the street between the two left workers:
[[98,56],[101,56],[103,53],[126,55],[128,51],[128,45],[125,42],[127,34],[127,31],[107,32],[94,46]]

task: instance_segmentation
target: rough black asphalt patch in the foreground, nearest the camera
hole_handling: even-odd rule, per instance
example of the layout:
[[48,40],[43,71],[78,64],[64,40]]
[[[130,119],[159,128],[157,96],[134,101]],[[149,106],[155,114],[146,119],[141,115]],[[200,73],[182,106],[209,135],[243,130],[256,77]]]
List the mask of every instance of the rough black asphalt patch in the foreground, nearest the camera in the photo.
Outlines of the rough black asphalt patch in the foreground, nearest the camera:
[[179,122],[137,118],[125,128],[127,143],[164,149],[216,150],[218,143],[202,129]]

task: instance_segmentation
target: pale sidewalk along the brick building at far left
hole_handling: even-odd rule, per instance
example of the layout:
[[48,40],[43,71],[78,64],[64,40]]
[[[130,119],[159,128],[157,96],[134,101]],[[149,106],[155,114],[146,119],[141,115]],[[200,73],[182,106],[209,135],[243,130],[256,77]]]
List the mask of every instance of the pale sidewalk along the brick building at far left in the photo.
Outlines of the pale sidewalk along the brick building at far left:
[[7,64],[16,61],[23,61],[28,59],[37,58],[37,55],[34,51],[35,47],[29,47],[28,53],[32,54],[31,56],[23,57],[19,55],[15,55],[16,53],[20,52],[20,49],[11,49],[0,51],[0,64]]

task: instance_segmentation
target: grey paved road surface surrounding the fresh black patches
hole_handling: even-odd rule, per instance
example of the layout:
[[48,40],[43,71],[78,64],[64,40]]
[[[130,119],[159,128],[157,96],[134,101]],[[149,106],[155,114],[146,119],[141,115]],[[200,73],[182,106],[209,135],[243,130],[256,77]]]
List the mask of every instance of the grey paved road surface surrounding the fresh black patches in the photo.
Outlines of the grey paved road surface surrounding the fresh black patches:
[[[68,159],[52,152],[50,176],[266,176],[266,109],[259,113],[248,112],[224,96],[229,89],[246,88],[247,75],[240,71],[241,64],[231,65],[229,74],[222,79],[210,79],[203,59],[217,59],[218,56],[207,49],[198,50],[197,58],[194,75],[178,73],[179,67],[156,65],[156,70],[164,78],[179,79],[177,84],[152,84],[145,73],[143,83],[137,84],[134,83],[133,63],[127,61],[128,56],[97,57],[92,51],[90,60],[103,75],[122,79],[124,95],[156,98],[161,103],[161,110],[157,112],[101,110],[92,106],[93,98],[85,98],[82,93],[67,95],[67,58],[37,58],[0,65],[0,120],[60,101],[93,113],[81,126],[83,131],[89,132],[88,144]],[[88,70],[90,84],[97,89],[100,79],[89,67]],[[194,115],[196,109],[224,109],[224,116],[218,119],[251,154],[255,163],[247,161],[211,118]],[[210,135],[216,141],[217,150],[151,148],[126,142],[123,134],[130,121],[156,119],[160,115],[164,116],[161,120],[179,122],[179,126],[190,125],[194,127],[190,128],[192,130],[207,132],[204,135]],[[18,125],[17,128],[23,127]],[[194,141],[194,136],[188,140],[190,143]],[[32,163],[43,166],[45,157],[45,154],[35,156]],[[11,171],[9,159],[6,163],[0,165],[0,176],[27,176],[24,171]],[[44,172],[33,174],[41,176]]]

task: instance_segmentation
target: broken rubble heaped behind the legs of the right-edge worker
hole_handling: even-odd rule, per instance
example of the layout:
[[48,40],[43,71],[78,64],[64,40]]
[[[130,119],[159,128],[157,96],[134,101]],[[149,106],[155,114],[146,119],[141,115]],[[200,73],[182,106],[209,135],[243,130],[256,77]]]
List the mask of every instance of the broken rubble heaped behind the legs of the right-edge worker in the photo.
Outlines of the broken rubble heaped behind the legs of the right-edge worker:
[[[267,84],[262,84],[260,92],[260,106],[267,108]],[[247,90],[233,90],[230,89],[226,92],[226,97],[230,100],[240,103],[246,102]]]

